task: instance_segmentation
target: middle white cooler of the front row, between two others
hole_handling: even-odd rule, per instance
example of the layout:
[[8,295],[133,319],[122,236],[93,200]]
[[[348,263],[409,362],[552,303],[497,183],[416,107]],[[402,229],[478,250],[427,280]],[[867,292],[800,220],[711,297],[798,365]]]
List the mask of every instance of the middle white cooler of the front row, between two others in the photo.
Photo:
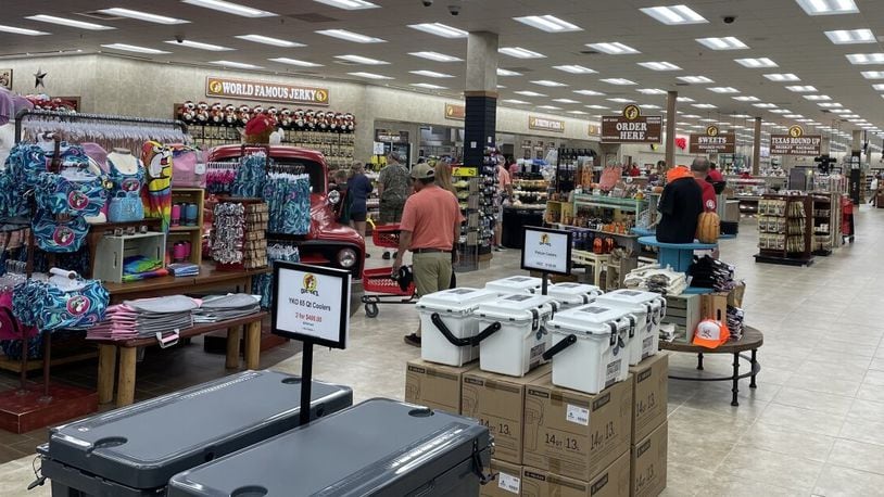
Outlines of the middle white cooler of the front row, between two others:
[[543,353],[552,337],[546,321],[557,304],[542,295],[515,294],[483,302],[476,309],[479,328],[500,322],[501,329],[479,344],[479,368],[510,377],[522,377],[544,362]]

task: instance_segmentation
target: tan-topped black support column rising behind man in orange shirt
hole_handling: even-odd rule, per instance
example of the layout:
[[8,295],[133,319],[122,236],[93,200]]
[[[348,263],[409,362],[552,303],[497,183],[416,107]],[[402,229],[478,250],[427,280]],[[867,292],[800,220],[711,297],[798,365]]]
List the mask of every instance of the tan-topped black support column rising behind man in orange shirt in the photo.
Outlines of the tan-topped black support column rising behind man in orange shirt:
[[470,33],[467,39],[467,109],[464,165],[482,164],[484,148],[494,143],[497,124],[497,35]]

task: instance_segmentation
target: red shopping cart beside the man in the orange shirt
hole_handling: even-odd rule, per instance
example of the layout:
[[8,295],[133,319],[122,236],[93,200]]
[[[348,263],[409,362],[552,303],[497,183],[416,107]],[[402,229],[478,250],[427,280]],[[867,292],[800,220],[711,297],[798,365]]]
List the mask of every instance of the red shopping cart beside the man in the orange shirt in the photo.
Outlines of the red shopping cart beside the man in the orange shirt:
[[[371,227],[371,240],[375,246],[384,248],[399,248],[399,225],[384,225]],[[369,318],[378,316],[378,304],[413,304],[415,302],[415,284],[412,282],[403,291],[399,282],[390,275],[393,268],[381,267],[363,270],[363,289],[372,295],[363,295],[365,315]]]

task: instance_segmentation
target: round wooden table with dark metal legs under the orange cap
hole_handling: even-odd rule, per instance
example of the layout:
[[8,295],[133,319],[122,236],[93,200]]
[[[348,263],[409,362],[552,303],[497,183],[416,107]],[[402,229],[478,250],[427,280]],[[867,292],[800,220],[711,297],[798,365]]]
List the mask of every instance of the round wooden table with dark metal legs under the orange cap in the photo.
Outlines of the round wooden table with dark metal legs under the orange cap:
[[[699,345],[694,345],[690,343],[671,343],[671,342],[660,342],[660,351],[670,351],[670,352],[686,352],[691,354],[697,355],[697,369],[703,370],[703,355],[704,354],[733,354],[734,362],[733,362],[733,374],[730,377],[715,377],[715,378],[702,378],[702,377],[677,377],[670,374],[669,378],[672,380],[685,380],[685,381],[732,381],[733,388],[731,392],[733,393],[733,398],[731,399],[731,406],[738,406],[740,403],[736,400],[736,394],[740,392],[737,388],[737,383],[743,378],[750,378],[749,381],[749,388],[755,388],[755,377],[758,374],[758,371],[761,370],[761,365],[756,359],[756,354],[761,345],[765,344],[765,335],[752,327],[745,327],[743,330],[743,337],[738,341],[730,341],[723,345],[720,345],[718,348],[706,348]],[[752,352],[750,357],[746,357],[745,355],[741,354],[742,352]],[[750,370],[749,372],[740,374],[740,359],[746,359],[749,361]]]

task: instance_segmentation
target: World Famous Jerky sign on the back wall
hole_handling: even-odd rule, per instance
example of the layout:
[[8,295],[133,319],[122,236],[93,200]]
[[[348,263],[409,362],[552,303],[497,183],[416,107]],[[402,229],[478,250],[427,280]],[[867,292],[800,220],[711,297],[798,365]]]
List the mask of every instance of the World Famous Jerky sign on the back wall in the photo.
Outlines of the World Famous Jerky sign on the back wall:
[[205,78],[205,95],[263,102],[328,105],[328,89],[325,88],[212,76]]

